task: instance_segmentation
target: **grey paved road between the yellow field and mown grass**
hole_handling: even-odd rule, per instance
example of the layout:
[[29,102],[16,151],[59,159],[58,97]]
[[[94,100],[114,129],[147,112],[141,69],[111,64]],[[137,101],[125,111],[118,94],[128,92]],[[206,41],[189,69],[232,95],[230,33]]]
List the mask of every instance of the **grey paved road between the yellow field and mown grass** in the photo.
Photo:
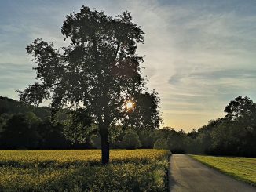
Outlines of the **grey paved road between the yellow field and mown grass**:
[[225,176],[185,154],[173,154],[170,158],[169,187],[172,192],[256,192],[256,187]]

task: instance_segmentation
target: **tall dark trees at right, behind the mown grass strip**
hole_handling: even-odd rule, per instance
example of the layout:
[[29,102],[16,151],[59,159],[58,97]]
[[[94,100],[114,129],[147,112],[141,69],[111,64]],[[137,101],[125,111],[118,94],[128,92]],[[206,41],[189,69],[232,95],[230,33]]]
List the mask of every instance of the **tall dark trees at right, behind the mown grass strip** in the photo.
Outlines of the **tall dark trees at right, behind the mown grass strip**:
[[224,111],[224,118],[199,129],[194,140],[199,153],[256,157],[256,103],[238,96]]

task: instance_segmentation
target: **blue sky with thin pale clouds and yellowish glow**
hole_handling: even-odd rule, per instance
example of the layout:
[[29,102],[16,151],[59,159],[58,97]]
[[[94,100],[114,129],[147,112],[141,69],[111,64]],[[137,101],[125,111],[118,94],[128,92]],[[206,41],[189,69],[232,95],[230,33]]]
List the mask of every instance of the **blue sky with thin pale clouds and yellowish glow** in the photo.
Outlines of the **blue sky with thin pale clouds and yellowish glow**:
[[162,126],[188,132],[221,118],[236,96],[256,102],[255,0],[0,0],[0,96],[35,82],[25,47],[35,38],[68,45],[60,27],[82,5],[115,16],[128,10],[145,32],[137,53],[148,88],[159,92]]

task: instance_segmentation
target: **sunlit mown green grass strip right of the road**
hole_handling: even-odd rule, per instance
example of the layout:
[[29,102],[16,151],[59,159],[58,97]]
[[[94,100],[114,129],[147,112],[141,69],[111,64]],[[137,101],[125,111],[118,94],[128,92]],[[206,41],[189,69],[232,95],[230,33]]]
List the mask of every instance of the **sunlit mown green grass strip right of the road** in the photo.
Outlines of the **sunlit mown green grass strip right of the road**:
[[256,186],[256,158],[216,157],[190,155],[192,158],[216,168],[235,179]]

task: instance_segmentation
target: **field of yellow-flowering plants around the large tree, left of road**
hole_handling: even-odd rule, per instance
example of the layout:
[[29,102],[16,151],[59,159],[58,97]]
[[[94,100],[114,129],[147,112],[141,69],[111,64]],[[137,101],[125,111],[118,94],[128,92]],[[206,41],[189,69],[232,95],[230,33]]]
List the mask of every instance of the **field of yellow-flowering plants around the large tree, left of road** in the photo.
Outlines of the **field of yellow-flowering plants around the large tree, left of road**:
[[0,150],[0,191],[166,191],[169,150]]

